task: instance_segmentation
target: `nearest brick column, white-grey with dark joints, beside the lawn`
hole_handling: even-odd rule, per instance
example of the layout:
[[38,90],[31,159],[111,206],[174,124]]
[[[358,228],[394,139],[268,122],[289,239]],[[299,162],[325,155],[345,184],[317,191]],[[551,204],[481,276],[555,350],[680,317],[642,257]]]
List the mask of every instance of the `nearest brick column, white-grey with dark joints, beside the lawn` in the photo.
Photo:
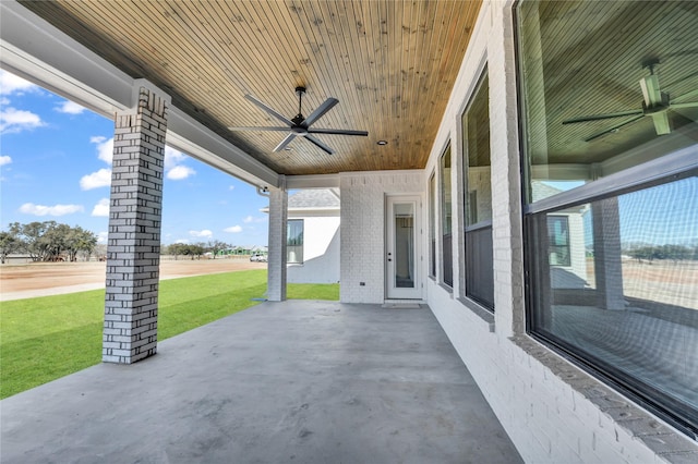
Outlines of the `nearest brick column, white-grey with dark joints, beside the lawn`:
[[167,96],[140,87],[113,137],[101,359],[131,364],[157,351]]

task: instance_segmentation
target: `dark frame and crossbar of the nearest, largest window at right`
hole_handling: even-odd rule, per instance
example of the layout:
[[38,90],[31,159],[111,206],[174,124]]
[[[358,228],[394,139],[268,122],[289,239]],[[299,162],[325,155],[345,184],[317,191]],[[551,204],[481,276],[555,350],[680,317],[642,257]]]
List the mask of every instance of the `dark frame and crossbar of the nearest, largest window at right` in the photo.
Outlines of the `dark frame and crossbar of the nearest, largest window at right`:
[[[532,176],[533,167],[531,166],[528,152],[528,111],[526,84],[524,82],[524,50],[522,50],[522,33],[520,27],[519,8],[522,1],[517,1],[513,5],[514,17],[514,42],[515,42],[515,61],[516,61],[516,88],[517,88],[517,115],[519,125],[519,150],[520,150],[520,197],[521,197],[521,216],[522,216],[522,237],[524,237],[524,271],[525,271],[525,307],[526,307],[526,333],[549,346],[561,356],[569,359],[574,364],[581,367],[599,380],[617,389],[633,401],[640,404],[646,410],[663,418],[677,429],[682,430],[694,440],[698,436],[698,422],[696,420],[694,411],[691,418],[685,416],[685,405],[678,404],[671,396],[653,389],[651,386],[629,375],[624,374],[610,364],[604,364],[598,359],[589,361],[580,354],[578,347],[571,346],[564,340],[554,337],[551,333],[541,333],[533,330],[533,319],[537,316],[535,309],[539,305],[540,295],[534,291],[535,285],[540,283],[540,276],[535,276],[535,267],[532,266],[537,256],[534,246],[532,246],[532,237],[535,236],[535,218],[539,215],[555,212],[580,206],[587,203],[602,200],[614,196],[643,191],[653,186],[667,184],[682,179],[698,175],[698,159],[696,158],[696,145],[688,146],[674,151],[670,151],[660,158],[631,166],[630,168],[613,172],[600,179],[590,180],[585,185],[578,186],[570,191],[565,191],[556,195],[532,202],[532,192],[529,188],[529,181]],[[645,151],[649,152],[662,144],[662,141],[654,143]],[[641,155],[642,152],[640,152]]]

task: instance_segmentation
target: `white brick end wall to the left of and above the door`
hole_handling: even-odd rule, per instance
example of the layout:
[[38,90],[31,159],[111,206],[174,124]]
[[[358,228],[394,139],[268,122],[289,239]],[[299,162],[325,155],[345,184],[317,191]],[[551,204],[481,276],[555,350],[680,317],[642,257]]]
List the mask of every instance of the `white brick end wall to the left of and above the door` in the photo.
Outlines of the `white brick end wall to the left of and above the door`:
[[[340,175],[340,291],[345,303],[385,301],[385,196],[424,190],[422,171]],[[422,215],[423,216],[423,215]],[[422,218],[422,229],[426,232]],[[424,247],[422,247],[425,251]],[[425,266],[426,257],[420,264]],[[424,267],[423,272],[426,271]],[[363,285],[361,284],[363,282]]]

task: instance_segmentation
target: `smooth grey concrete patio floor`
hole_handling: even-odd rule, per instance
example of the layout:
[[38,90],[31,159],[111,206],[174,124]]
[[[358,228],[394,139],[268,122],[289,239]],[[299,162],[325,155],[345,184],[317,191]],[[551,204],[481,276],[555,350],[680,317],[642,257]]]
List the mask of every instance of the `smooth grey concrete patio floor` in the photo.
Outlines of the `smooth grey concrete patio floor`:
[[3,463],[519,463],[426,307],[289,301],[0,402]]

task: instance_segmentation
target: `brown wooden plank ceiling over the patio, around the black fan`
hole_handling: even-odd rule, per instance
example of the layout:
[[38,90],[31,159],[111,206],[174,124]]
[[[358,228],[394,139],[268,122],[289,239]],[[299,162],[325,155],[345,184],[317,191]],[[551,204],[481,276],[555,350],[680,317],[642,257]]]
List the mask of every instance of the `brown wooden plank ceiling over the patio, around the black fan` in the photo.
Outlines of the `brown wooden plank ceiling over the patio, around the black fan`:
[[[275,171],[322,174],[425,166],[481,0],[23,4]],[[279,125],[245,94],[291,119],[297,86],[305,117],[339,99],[314,127],[369,136],[317,135],[330,156],[302,137],[273,152],[286,134],[227,130]]]

